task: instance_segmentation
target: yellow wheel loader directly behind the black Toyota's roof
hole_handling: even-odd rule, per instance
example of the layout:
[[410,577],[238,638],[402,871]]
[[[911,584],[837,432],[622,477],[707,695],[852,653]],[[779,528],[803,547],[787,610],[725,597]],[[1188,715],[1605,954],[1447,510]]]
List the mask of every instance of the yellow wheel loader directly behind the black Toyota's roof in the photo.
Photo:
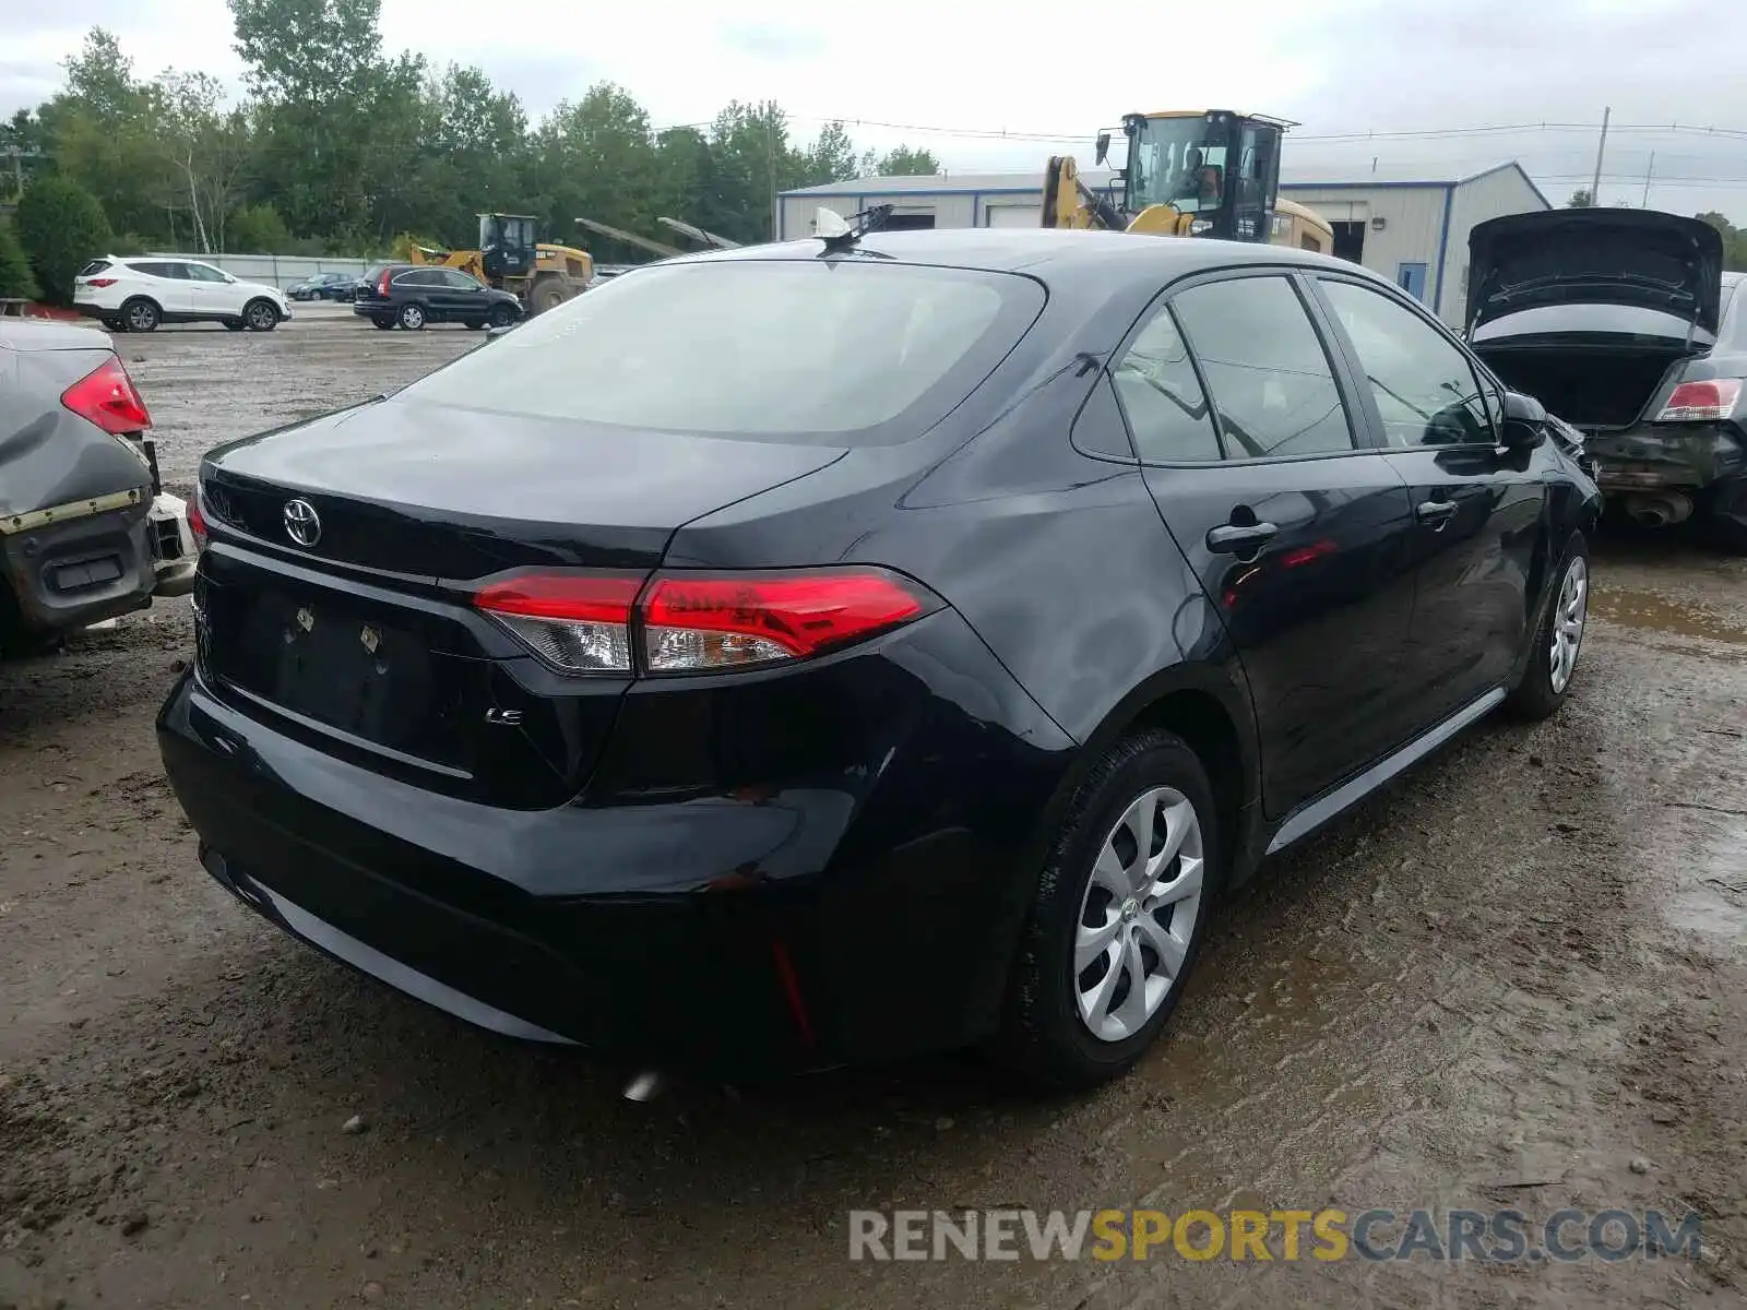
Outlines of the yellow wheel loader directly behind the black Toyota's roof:
[[[1277,246],[1335,250],[1335,229],[1303,204],[1281,199],[1281,138],[1295,124],[1233,110],[1125,114],[1129,159],[1099,194],[1080,180],[1073,155],[1043,175],[1043,225],[1148,236],[1211,236]],[[1097,136],[1097,162],[1111,133]]]

